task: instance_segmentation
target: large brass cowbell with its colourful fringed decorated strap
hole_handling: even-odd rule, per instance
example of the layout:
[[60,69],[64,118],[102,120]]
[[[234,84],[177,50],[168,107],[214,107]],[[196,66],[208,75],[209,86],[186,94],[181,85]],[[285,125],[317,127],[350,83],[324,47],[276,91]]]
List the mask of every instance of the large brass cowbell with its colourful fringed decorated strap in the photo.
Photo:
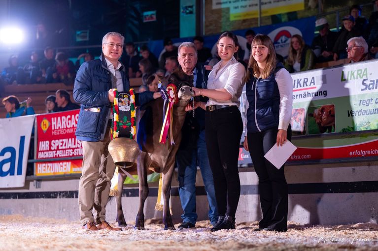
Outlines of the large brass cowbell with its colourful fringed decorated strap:
[[139,146],[133,139],[132,133],[132,102],[128,93],[119,93],[115,98],[118,100],[119,123],[114,123],[114,117],[116,116],[113,114],[112,128],[113,131],[118,131],[118,136],[110,141],[108,151],[115,165],[128,168],[133,166],[139,153]]

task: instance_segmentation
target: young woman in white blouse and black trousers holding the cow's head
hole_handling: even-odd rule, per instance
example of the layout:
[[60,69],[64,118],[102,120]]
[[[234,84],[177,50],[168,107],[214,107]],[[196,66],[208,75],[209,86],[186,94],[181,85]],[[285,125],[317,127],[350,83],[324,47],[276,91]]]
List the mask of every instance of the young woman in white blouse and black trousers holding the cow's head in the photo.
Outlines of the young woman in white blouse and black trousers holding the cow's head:
[[[206,148],[214,178],[215,197],[219,219],[211,231],[235,229],[235,213],[240,197],[238,157],[243,130],[238,109],[244,85],[245,68],[235,58],[238,38],[232,32],[223,32],[217,42],[221,61],[208,76],[207,89],[193,88],[195,95],[209,100],[196,102],[195,108],[206,110]],[[187,110],[192,110],[190,105]]]

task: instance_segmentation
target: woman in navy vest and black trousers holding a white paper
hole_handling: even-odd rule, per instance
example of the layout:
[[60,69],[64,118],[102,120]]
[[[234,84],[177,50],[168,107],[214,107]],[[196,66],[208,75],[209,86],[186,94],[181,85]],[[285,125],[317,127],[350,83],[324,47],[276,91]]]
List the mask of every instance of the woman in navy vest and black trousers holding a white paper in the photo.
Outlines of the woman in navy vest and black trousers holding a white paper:
[[275,145],[291,140],[290,118],[293,85],[289,72],[275,58],[275,47],[267,35],[252,41],[246,75],[248,100],[244,148],[249,151],[259,178],[263,219],[259,230],[287,230],[287,183],[284,166],[277,169],[264,155]]

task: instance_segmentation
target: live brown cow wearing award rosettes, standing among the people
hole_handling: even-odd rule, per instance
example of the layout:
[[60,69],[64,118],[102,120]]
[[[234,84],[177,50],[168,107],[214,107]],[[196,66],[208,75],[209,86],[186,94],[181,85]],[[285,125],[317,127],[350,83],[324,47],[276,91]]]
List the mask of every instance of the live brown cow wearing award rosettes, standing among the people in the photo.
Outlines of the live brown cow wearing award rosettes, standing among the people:
[[[136,229],[144,229],[144,201],[148,196],[147,172],[163,173],[162,194],[164,200],[163,223],[164,229],[174,230],[169,208],[171,196],[171,181],[174,169],[175,155],[181,142],[181,127],[185,120],[185,106],[193,96],[193,76],[186,75],[181,68],[176,69],[171,76],[161,79],[162,85],[174,84],[177,87],[179,102],[173,106],[173,145],[167,140],[166,144],[159,143],[160,132],[163,124],[162,98],[155,99],[147,104],[145,113],[138,124],[137,142],[141,148],[137,157],[137,174],[139,178],[139,211],[135,223]],[[137,113],[137,117],[140,116]],[[129,171],[129,169],[127,169]],[[122,211],[121,197],[123,182],[126,175],[120,171],[118,176],[118,192],[116,195],[118,225],[126,225]]]

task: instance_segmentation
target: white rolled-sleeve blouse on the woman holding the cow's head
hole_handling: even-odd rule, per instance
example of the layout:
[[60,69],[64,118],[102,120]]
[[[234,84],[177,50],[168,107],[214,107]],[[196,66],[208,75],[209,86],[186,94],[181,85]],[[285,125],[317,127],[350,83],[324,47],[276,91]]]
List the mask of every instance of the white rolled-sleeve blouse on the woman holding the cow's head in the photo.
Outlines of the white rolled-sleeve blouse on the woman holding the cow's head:
[[[245,68],[234,57],[219,69],[222,61],[214,65],[208,75],[207,89],[226,89],[232,95],[230,100],[217,100],[209,98],[206,106],[209,105],[236,105],[239,107],[239,97],[243,90]],[[219,71],[218,71],[219,69]],[[218,72],[217,72],[218,71]]]

